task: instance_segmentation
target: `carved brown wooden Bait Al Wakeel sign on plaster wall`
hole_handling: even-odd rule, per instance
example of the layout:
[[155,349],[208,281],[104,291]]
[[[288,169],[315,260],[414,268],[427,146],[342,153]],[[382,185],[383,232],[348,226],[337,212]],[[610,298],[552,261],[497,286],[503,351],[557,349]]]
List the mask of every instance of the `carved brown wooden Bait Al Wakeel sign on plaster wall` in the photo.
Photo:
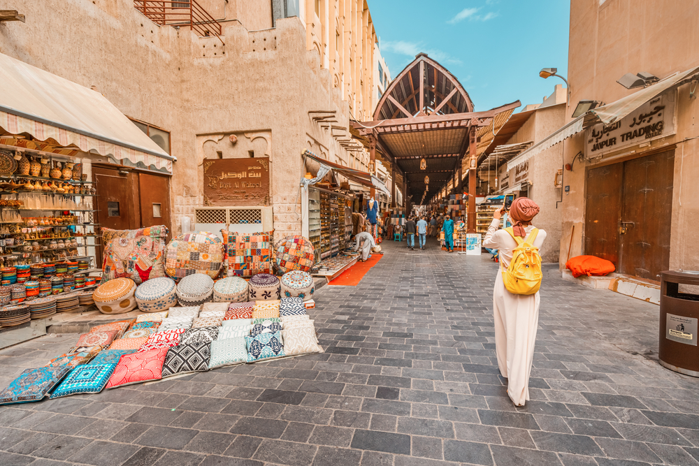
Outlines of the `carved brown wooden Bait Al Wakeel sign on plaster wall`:
[[204,159],[204,205],[269,203],[269,158]]

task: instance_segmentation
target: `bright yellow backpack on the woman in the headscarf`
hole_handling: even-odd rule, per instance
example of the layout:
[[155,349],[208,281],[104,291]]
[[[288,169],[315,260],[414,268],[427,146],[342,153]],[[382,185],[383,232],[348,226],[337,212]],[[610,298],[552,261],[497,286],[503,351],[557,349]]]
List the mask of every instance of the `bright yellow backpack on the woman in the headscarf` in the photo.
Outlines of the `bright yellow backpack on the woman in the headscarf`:
[[534,246],[539,231],[534,228],[524,239],[514,235],[514,228],[505,228],[505,231],[517,241],[517,247],[512,249],[512,261],[507,270],[503,269],[500,262],[505,289],[512,294],[533,295],[539,291],[542,278],[541,256],[539,248]]

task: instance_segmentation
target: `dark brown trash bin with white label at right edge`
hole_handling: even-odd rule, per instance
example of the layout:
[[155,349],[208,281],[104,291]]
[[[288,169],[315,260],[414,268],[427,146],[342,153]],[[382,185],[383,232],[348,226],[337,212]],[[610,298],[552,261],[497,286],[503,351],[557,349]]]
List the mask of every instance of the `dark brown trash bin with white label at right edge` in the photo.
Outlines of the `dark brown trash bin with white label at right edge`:
[[661,273],[661,365],[675,372],[699,377],[699,272],[668,270]]

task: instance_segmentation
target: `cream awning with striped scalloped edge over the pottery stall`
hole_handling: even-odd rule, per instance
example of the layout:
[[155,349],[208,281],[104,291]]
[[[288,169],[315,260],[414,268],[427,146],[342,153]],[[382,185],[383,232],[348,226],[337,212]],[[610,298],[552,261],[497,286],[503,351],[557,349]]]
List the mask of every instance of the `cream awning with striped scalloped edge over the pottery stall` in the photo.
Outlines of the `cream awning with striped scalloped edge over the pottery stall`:
[[0,54],[0,128],[172,173],[162,150],[102,94]]

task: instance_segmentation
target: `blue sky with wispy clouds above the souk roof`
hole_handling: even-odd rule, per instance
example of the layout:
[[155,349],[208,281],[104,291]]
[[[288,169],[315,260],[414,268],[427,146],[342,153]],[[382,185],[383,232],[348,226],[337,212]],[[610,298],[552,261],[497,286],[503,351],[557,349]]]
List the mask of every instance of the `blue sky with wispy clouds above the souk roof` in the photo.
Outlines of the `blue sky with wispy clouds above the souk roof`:
[[[540,103],[567,76],[568,0],[368,0],[395,78],[426,52],[459,79],[476,110]],[[521,110],[519,108],[516,111]]]

